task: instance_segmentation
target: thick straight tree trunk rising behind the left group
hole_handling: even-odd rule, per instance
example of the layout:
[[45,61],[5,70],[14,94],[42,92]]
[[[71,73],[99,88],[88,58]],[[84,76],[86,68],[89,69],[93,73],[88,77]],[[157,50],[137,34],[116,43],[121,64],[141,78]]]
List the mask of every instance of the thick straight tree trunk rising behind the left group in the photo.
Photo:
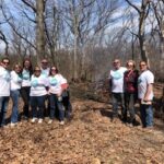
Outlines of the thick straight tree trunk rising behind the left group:
[[39,65],[45,57],[44,0],[36,0],[36,56]]

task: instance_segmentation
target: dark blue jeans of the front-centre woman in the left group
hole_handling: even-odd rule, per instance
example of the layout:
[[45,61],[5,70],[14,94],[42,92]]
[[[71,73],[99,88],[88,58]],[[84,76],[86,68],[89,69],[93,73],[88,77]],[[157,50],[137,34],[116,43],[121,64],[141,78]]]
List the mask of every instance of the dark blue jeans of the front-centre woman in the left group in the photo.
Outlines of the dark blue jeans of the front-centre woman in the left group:
[[46,98],[46,95],[31,96],[31,107],[32,107],[33,118],[34,117],[44,118],[45,98]]

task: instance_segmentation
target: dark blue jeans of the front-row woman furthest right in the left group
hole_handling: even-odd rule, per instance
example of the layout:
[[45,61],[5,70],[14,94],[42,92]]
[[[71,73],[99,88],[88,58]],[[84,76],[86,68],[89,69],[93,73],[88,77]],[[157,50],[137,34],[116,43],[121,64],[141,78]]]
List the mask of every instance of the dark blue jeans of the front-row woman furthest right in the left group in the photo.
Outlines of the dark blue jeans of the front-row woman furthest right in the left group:
[[50,101],[50,119],[55,118],[55,113],[59,112],[59,120],[63,120],[65,118],[65,109],[62,106],[62,99],[59,99],[56,94],[50,94],[49,95],[49,101]]

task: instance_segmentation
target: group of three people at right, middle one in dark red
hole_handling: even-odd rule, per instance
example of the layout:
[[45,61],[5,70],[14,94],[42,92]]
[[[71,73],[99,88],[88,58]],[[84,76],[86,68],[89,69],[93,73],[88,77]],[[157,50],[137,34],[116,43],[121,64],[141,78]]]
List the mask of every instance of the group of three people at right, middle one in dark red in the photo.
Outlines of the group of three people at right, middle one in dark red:
[[[141,121],[144,128],[153,126],[153,83],[154,75],[149,70],[148,63],[139,63],[140,71],[136,69],[133,60],[127,61],[121,67],[120,60],[113,61],[113,69],[109,72],[109,84],[113,103],[113,120],[118,118],[118,103],[121,105],[121,120],[130,127],[136,126],[137,101],[140,103]],[[129,112],[129,120],[127,114]]]

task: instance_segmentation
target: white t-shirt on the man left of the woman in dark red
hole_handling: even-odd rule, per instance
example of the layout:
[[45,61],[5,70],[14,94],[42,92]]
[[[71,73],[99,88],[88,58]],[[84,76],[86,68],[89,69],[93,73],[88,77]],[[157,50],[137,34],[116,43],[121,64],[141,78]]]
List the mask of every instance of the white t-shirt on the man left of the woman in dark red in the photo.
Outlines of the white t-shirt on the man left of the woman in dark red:
[[120,67],[118,70],[110,70],[109,79],[112,79],[112,92],[124,93],[124,73],[127,68]]

